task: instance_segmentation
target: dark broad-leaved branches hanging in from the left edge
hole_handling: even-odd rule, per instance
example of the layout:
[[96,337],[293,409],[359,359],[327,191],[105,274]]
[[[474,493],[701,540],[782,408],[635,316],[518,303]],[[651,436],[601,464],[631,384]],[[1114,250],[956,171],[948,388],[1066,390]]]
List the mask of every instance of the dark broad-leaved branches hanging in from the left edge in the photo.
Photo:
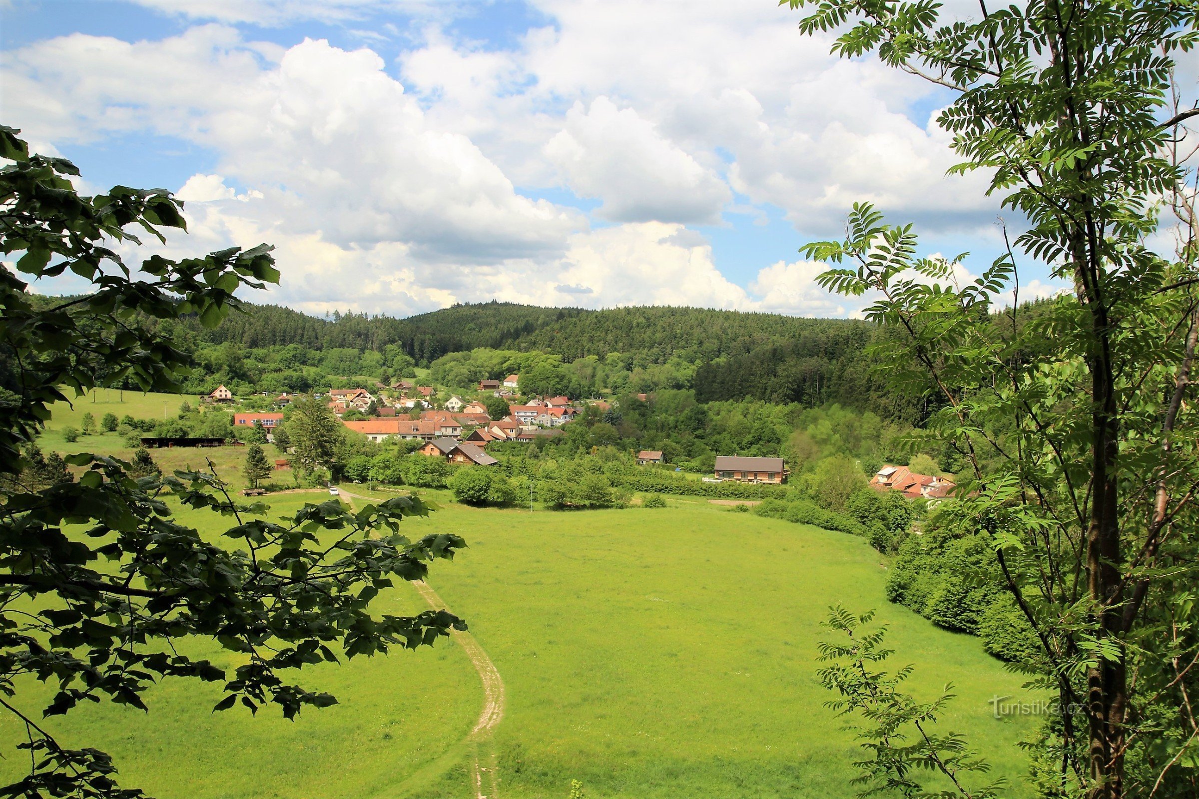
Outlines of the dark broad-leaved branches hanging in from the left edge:
[[[137,243],[135,226],[164,240],[185,228],[181,205],[159,190],[116,187],[82,196],[70,162],[31,156],[11,128],[0,128],[0,250],[34,279],[67,271],[89,280],[86,296],[54,303],[28,292],[0,266],[0,341],[6,404],[0,428],[0,706],[28,730],[20,749],[30,771],[5,795],[140,795],[116,786],[110,758],[68,749],[34,720],[18,692],[25,676],[58,686],[47,716],[80,702],[146,709],[143,695],[165,677],[223,683],[225,710],[277,704],[291,718],[336,700],[305,689],[291,670],[321,660],[432,643],[464,623],[445,611],[412,617],[375,615],[370,600],[394,579],[418,580],[435,558],[464,545],[451,534],[410,541],[398,532],[426,515],[418,500],[396,497],[356,513],[337,502],[306,506],[269,521],[261,504],[234,502],[212,473],[162,477],[143,450],[134,464],[94,454],[26,485],[42,467],[29,448],[64,387],[84,393],[126,382],[177,389],[187,356],[138,315],[177,323],[194,314],[209,327],[241,307],[235,293],[278,279],[270,248],[229,249],[171,261],[153,255],[133,268],[109,242]],[[10,394],[5,393],[4,397]],[[133,419],[128,419],[133,430]],[[177,424],[177,422],[176,422]],[[22,452],[22,447],[25,450]],[[306,443],[306,458],[319,458]],[[174,519],[175,503],[225,516],[233,526],[212,541]],[[228,544],[225,549],[222,544]],[[20,609],[20,610],[18,610]],[[176,642],[203,636],[236,653],[233,673],[180,654]]]

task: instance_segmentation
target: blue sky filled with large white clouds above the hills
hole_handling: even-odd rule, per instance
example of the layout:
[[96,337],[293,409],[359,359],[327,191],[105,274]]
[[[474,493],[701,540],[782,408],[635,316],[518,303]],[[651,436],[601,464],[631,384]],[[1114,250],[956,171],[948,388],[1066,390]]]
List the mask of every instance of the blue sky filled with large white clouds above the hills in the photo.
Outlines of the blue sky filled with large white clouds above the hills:
[[832,59],[772,0],[0,14],[6,125],[89,186],[179,192],[193,235],[168,254],[275,243],[271,301],[309,311],[496,297],[851,315],[797,249],[855,200],[916,222],[928,252],[975,253],[966,271],[998,254],[983,176],[945,177],[929,120],[947,92]]

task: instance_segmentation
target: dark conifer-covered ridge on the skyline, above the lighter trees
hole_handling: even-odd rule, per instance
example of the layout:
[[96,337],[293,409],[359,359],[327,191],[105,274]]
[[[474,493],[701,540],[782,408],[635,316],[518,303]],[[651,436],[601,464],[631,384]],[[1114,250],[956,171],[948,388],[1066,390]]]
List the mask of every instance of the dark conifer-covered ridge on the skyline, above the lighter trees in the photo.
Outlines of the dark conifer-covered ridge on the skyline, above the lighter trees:
[[366,314],[323,319],[279,305],[253,305],[249,314],[233,314],[213,331],[197,323],[193,332],[201,341],[234,341],[246,347],[299,344],[313,350],[382,351],[387,345],[398,345],[426,365],[448,352],[476,347],[538,350],[560,355],[567,362],[635,352],[649,363],[670,358],[704,363],[784,343],[799,345],[806,356],[837,357],[835,352],[846,347],[860,350],[870,335],[870,326],[704,308],[584,310],[488,302],[406,319]]

